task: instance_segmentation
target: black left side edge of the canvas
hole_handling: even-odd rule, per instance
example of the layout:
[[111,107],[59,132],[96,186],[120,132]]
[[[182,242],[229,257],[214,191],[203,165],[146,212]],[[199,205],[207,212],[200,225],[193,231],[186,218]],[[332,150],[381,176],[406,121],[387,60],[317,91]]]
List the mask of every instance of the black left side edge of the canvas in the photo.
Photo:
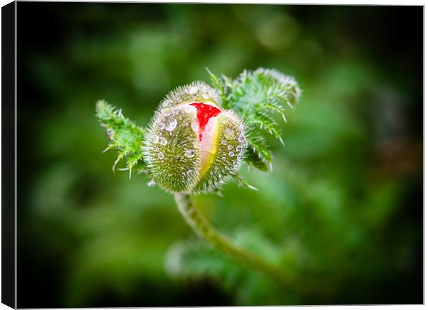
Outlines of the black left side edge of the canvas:
[[15,8],[1,8],[1,302],[16,307],[16,109]]

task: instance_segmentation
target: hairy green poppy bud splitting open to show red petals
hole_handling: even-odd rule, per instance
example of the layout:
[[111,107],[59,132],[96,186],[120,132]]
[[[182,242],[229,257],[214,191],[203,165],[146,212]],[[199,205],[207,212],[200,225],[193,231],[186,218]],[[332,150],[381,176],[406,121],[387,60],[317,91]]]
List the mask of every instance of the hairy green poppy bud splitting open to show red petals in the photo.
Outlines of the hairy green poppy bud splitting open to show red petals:
[[166,96],[150,122],[144,159],[153,180],[168,192],[211,192],[240,168],[245,126],[218,104],[210,86],[194,82]]

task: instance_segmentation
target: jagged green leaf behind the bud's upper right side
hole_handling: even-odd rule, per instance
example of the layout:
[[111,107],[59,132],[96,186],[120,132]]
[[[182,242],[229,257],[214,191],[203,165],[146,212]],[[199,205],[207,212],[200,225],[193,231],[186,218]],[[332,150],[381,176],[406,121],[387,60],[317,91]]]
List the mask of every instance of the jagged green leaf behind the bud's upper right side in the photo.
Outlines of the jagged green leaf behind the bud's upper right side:
[[266,171],[271,165],[271,150],[262,133],[272,134],[282,141],[280,125],[273,118],[278,113],[284,121],[285,106],[293,107],[302,91],[295,79],[277,70],[259,68],[244,70],[236,79],[215,76],[208,70],[213,87],[220,91],[222,106],[240,114],[250,130],[246,134],[249,147],[246,162]]

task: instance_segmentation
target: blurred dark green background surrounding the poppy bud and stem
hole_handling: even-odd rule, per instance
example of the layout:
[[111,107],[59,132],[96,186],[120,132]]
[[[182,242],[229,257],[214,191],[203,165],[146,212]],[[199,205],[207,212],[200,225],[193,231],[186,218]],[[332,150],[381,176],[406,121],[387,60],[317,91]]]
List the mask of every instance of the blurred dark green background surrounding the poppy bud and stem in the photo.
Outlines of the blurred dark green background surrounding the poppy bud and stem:
[[[17,3],[18,307],[421,303],[422,7]],[[173,197],[112,172],[106,99],[145,125],[205,67],[276,68],[286,113],[259,189],[195,204],[296,291],[200,242]]]

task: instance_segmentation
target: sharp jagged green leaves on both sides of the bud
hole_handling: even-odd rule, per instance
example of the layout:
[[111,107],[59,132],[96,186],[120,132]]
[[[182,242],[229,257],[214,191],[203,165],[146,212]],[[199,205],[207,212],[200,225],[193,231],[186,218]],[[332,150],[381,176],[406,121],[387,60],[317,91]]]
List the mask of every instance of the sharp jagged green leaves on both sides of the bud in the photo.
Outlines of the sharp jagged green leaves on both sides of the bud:
[[[271,167],[272,154],[264,134],[269,133],[283,143],[280,125],[273,116],[280,114],[286,121],[285,107],[293,107],[302,93],[298,84],[292,77],[272,69],[244,70],[236,79],[207,71],[211,85],[220,94],[220,105],[242,116],[248,127],[245,162],[267,171]],[[118,150],[113,170],[119,161],[126,160],[124,169],[129,170],[130,175],[132,172],[146,172],[142,149],[146,133],[144,127],[135,125],[124,117],[120,109],[106,101],[97,103],[97,117],[111,140],[106,150]],[[239,174],[232,180],[254,189]]]

